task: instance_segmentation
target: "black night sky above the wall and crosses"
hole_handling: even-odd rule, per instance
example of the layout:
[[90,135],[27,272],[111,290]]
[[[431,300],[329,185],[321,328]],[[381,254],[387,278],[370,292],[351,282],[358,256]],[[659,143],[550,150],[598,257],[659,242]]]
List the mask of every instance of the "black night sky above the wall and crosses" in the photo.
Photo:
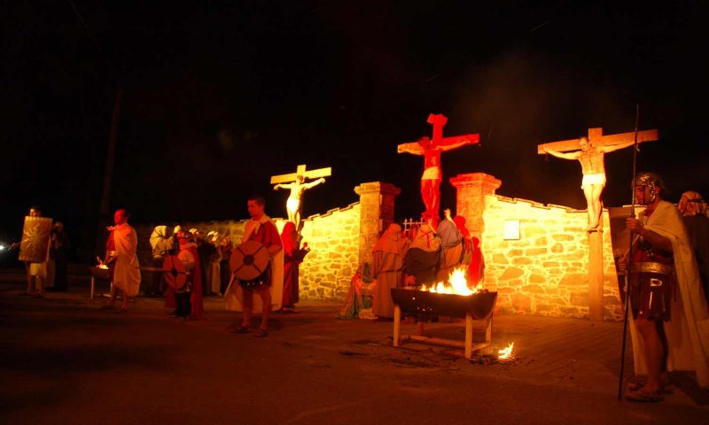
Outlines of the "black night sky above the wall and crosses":
[[[620,4],[622,3],[622,4]],[[273,174],[332,166],[306,216],[401,187],[423,211],[423,158],[396,145],[479,133],[442,155],[448,178],[484,172],[498,193],[585,207],[580,166],[536,145],[658,128],[638,169],[709,197],[702,2],[109,2],[0,5],[0,241],[30,205],[66,223],[79,259],[98,223],[113,104],[122,90],[112,209],[134,223],[245,219],[245,197],[284,217]],[[73,5],[78,11],[74,12]],[[79,17],[81,16],[81,19]],[[605,205],[630,202],[632,151],[606,156]]]

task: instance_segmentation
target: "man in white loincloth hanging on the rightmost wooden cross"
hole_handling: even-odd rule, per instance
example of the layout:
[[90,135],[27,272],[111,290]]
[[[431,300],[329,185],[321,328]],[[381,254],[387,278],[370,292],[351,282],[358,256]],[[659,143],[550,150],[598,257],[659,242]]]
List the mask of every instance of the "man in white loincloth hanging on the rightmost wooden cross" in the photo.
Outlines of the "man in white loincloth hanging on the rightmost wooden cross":
[[580,151],[573,152],[557,152],[549,148],[544,148],[545,153],[562,158],[562,159],[578,159],[581,163],[581,172],[583,180],[581,181],[581,189],[586,197],[588,205],[588,232],[595,232],[598,229],[599,220],[601,218],[602,203],[601,193],[605,187],[605,166],[604,154],[619,149],[627,148],[634,142],[626,142],[614,144],[612,146],[594,146],[588,141],[587,136],[579,138]]

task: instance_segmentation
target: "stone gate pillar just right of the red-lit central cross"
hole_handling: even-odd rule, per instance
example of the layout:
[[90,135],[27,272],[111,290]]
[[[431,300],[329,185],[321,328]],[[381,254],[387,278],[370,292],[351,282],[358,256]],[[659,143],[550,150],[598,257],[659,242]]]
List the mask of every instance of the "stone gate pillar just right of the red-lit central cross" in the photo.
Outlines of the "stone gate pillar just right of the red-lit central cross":
[[456,215],[465,218],[465,227],[471,236],[480,236],[485,231],[482,214],[485,211],[485,196],[495,195],[495,190],[503,182],[485,173],[458,174],[450,178],[450,184],[456,188]]

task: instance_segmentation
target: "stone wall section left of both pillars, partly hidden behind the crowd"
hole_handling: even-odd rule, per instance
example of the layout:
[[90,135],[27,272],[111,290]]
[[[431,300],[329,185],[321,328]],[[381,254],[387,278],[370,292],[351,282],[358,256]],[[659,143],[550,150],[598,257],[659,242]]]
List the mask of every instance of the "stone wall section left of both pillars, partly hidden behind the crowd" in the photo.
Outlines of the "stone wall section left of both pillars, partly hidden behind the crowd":
[[[360,255],[360,211],[360,204],[354,203],[303,220],[302,242],[308,243],[310,253],[300,265],[300,298],[339,301],[345,297]],[[280,232],[285,220],[274,221]],[[196,221],[181,225],[185,229],[197,228],[202,235],[216,230],[238,242],[244,235],[245,223],[246,220]],[[152,261],[149,239],[155,226],[136,226],[141,265],[149,265]]]

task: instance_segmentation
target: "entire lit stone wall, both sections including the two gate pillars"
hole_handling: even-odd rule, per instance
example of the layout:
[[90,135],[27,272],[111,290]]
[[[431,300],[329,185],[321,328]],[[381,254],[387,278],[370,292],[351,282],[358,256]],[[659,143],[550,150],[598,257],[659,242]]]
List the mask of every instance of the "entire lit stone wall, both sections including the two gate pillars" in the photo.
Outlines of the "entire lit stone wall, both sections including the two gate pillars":
[[[458,174],[456,211],[480,236],[486,262],[484,287],[499,294],[504,313],[588,318],[588,234],[586,212],[541,205],[495,194],[502,182],[489,174]],[[300,265],[304,300],[341,301],[358,264],[370,259],[379,232],[393,220],[400,189],[384,182],[357,186],[360,202],[304,220],[303,242],[311,249]],[[519,239],[505,240],[507,220],[519,221]],[[622,319],[607,211],[604,211],[604,318]],[[276,219],[279,231],[283,219]],[[240,241],[242,221],[183,223],[202,234],[217,230]],[[136,227],[141,264],[151,262],[148,239],[154,225]]]

